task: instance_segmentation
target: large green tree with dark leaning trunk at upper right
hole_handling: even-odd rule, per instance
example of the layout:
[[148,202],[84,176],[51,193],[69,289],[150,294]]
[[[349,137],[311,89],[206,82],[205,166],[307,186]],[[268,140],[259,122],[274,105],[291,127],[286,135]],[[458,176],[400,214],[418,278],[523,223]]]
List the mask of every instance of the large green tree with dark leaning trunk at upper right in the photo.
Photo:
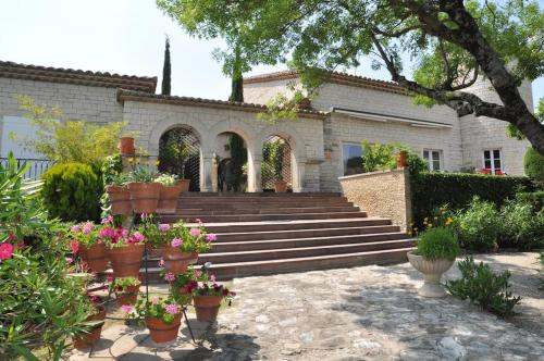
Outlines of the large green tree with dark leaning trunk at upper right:
[[[518,86],[544,72],[544,13],[519,0],[157,0],[191,35],[223,37],[218,57],[243,67],[287,62],[312,89],[338,66],[370,55],[374,69],[420,102],[443,103],[459,115],[489,116],[515,125],[544,154],[544,125],[528,109]],[[403,72],[416,64],[413,76]],[[311,74],[311,76],[307,76]],[[316,76],[318,74],[318,76]],[[502,103],[470,91],[487,78]]]

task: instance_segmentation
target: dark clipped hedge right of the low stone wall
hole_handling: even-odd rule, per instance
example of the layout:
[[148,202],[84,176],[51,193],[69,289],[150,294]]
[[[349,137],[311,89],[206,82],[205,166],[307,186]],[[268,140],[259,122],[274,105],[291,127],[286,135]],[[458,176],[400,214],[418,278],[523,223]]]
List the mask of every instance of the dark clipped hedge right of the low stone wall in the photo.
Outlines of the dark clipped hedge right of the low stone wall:
[[410,177],[411,202],[416,224],[437,208],[466,208],[474,196],[503,206],[518,192],[531,192],[534,185],[523,176],[494,176],[465,173],[420,173]]

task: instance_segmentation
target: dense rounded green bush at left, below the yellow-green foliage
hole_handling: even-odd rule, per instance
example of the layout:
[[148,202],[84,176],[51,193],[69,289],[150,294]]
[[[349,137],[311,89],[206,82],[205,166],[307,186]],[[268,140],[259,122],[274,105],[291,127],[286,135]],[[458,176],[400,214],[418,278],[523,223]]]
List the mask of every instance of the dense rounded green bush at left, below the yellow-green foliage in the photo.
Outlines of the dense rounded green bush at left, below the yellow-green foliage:
[[41,178],[41,196],[50,216],[75,222],[99,219],[102,185],[91,166],[58,164],[44,173]]

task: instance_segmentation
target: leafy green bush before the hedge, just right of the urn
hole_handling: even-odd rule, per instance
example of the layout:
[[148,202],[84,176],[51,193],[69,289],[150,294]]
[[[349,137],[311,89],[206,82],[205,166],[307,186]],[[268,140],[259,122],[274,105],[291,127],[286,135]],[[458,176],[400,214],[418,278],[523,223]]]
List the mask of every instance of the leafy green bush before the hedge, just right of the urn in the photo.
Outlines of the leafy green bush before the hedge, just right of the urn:
[[496,247],[503,223],[495,204],[474,197],[465,211],[457,212],[454,228],[462,248],[489,251]]

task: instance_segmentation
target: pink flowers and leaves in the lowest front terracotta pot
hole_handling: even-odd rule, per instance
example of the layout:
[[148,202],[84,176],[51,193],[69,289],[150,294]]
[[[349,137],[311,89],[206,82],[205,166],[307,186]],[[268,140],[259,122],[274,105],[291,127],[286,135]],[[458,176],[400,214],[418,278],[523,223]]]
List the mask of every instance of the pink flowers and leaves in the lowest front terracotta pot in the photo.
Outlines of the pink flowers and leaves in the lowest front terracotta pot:
[[177,315],[183,311],[182,307],[172,298],[163,299],[161,297],[153,297],[151,300],[138,299],[136,304],[122,306],[123,311],[127,314],[128,319],[141,320],[157,318],[161,319],[165,324],[172,324]]

